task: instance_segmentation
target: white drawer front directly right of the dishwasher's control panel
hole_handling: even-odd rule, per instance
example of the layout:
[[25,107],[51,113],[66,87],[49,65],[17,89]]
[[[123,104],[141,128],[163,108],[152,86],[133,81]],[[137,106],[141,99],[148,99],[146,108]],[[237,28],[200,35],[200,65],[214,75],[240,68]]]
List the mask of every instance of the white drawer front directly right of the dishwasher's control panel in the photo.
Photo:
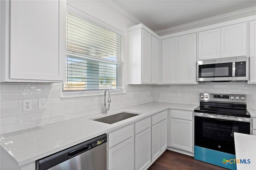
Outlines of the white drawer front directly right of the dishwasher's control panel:
[[134,135],[134,125],[128,125],[108,134],[108,148],[132,137]]

